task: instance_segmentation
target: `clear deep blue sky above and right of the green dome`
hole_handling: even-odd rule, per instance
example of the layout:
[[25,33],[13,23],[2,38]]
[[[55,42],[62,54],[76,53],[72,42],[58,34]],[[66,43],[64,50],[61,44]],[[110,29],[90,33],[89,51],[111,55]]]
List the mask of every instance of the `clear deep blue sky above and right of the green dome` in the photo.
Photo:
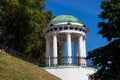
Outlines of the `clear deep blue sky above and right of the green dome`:
[[51,10],[54,16],[69,14],[80,19],[89,29],[86,39],[87,52],[107,44],[106,39],[102,38],[99,31],[98,14],[101,0],[47,0],[46,10]]

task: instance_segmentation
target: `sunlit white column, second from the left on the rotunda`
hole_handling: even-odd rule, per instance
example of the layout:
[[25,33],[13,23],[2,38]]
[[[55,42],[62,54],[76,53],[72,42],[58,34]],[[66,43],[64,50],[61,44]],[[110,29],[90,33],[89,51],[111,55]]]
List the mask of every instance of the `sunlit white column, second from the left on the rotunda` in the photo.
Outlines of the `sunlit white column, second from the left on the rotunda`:
[[57,36],[53,34],[53,65],[57,65]]

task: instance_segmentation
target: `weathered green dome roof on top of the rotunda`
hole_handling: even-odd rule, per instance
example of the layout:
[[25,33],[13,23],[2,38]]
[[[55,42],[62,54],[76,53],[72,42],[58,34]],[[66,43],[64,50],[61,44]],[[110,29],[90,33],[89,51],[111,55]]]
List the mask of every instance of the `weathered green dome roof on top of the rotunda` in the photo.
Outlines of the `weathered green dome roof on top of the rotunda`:
[[61,23],[61,22],[76,22],[76,23],[81,23],[80,20],[72,15],[60,15],[55,18],[53,18],[50,21],[50,24],[56,24],[56,23]]

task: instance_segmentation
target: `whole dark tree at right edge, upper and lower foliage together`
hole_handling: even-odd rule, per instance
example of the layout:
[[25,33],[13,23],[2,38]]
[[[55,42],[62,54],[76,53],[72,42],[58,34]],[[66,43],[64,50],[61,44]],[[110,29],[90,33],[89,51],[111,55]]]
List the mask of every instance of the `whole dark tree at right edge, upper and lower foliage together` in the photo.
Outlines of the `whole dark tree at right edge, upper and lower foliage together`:
[[88,58],[98,71],[91,75],[92,80],[120,79],[120,0],[104,0],[101,2],[102,12],[98,23],[99,34],[107,39],[109,44],[89,51]]

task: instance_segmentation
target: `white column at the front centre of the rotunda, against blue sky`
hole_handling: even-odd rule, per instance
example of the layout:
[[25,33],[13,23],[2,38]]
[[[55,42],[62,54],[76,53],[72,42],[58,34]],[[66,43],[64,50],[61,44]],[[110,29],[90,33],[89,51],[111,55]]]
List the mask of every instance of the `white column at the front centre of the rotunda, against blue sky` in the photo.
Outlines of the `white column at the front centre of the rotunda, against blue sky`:
[[67,33],[67,55],[68,55],[68,64],[72,63],[72,49],[71,49],[71,34]]

